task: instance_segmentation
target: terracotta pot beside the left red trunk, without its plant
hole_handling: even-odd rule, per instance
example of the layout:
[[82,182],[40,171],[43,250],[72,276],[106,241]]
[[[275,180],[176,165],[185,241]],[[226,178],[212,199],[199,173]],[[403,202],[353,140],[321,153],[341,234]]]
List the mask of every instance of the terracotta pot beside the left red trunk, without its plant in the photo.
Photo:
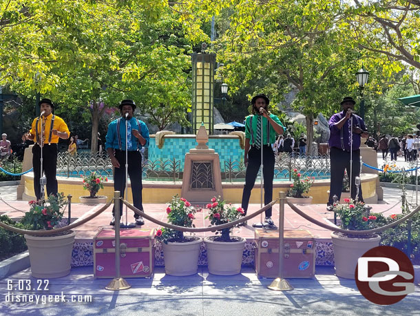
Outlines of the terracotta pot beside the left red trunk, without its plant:
[[196,274],[201,243],[202,238],[200,237],[190,242],[162,243],[165,273],[178,277]]

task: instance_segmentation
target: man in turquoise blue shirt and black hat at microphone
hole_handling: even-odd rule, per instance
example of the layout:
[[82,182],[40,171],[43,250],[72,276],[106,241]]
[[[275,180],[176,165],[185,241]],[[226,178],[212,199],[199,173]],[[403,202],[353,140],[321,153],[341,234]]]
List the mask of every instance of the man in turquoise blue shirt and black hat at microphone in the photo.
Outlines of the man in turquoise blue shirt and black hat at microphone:
[[[124,197],[125,191],[125,122],[127,121],[127,164],[128,175],[132,185],[134,207],[143,210],[141,181],[141,153],[143,147],[149,146],[149,129],[146,124],[133,117],[136,104],[132,100],[123,100],[120,103],[121,117],[108,125],[105,148],[114,166],[114,190],[120,191]],[[123,214],[123,204],[120,203],[120,216]],[[110,225],[115,224],[115,210],[112,210]],[[134,215],[137,225],[145,224],[142,217]]]

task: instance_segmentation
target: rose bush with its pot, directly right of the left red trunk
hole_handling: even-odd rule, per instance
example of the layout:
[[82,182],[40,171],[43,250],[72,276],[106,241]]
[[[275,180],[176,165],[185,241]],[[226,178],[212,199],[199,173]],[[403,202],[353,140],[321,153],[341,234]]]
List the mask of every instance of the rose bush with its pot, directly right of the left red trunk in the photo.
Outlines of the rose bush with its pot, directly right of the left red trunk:
[[[178,195],[172,197],[166,213],[170,224],[195,227],[193,219],[196,209],[191,206],[189,201],[178,197]],[[155,239],[162,242],[165,273],[176,276],[197,273],[202,238],[185,236],[180,230],[162,228],[156,231]]]

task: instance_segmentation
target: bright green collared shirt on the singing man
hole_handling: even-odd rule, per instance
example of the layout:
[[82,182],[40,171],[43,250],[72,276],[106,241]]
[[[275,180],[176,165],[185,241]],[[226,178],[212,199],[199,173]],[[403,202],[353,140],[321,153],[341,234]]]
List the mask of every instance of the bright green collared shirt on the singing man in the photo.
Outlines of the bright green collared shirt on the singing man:
[[[249,144],[251,145],[255,145],[255,137],[257,135],[257,121],[259,116],[262,117],[262,115],[249,115],[245,119],[245,138],[250,139]],[[273,121],[282,126],[284,132],[285,128],[280,119],[273,114],[270,114],[270,117],[273,119]],[[276,134],[277,133],[275,132],[273,126],[271,126],[269,120],[265,117],[262,117],[262,144],[274,144]]]

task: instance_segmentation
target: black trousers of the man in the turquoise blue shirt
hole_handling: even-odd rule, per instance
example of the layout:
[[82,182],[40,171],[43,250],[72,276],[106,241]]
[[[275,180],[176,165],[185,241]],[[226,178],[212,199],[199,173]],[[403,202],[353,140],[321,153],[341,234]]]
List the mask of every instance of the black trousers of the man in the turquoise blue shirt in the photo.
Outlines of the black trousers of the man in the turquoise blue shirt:
[[[114,168],[114,190],[120,191],[120,197],[125,198],[125,150],[115,150],[115,157],[120,163],[120,168]],[[139,151],[129,151],[127,155],[128,175],[132,184],[133,205],[143,210],[141,182],[141,154]],[[112,209],[114,215],[114,209]],[[120,202],[120,216],[123,215],[123,203]],[[137,214],[134,217],[138,218]]]

